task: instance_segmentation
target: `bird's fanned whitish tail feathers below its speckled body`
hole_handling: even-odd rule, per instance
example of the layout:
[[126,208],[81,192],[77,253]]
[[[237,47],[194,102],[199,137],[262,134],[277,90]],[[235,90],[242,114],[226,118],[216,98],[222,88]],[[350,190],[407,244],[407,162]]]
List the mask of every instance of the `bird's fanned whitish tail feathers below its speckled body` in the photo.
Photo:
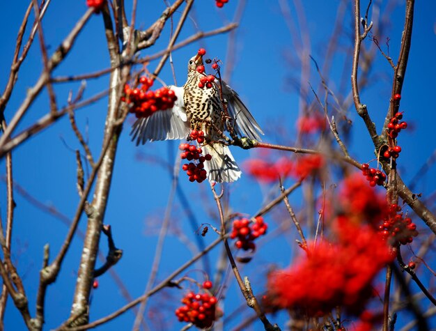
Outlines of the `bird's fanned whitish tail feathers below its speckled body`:
[[218,183],[234,182],[240,178],[242,172],[236,164],[228,146],[214,143],[202,146],[203,154],[210,154],[212,159],[204,162],[204,169],[208,172],[209,181]]

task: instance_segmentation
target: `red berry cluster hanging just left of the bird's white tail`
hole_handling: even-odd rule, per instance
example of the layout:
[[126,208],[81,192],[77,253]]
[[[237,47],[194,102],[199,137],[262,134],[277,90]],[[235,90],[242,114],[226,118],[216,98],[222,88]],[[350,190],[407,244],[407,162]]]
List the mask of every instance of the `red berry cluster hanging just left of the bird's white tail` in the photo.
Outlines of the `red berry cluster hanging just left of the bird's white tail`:
[[[202,136],[203,137],[203,136]],[[198,137],[197,140],[201,138]],[[204,138],[203,138],[204,139]],[[203,151],[200,147],[196,147],[195,145],[191,144],[180,144],[179,146],[180,151],[182,153],[180,154],[180,157],[182,157],[182,160],[196,160],[197,162],[189,162],[182,165],[182,170],[186,171],[187,176],[189,176],[189,181],[194,182],[197,181],[197,183],[201,183],[203,180],[205,180],[208,177],[208,173],[205,171],[204,168],[204,162],[212,160],[212,155],[206,154],[201,155]]]

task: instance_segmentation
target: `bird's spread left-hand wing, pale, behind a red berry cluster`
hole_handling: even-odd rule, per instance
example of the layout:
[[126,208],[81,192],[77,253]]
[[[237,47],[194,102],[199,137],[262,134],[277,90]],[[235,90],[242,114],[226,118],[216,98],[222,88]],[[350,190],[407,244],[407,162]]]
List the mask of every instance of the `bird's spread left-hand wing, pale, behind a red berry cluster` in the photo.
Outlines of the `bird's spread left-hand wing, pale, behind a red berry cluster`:
[[147,141],[185,139],[189,134],[189,125],[183,102],[185,90],[178,86],[169,86],[176,93],[177,100],[173,108],[158,110],[151,116],[139,118],[132,126],[132,141],[137,145]]

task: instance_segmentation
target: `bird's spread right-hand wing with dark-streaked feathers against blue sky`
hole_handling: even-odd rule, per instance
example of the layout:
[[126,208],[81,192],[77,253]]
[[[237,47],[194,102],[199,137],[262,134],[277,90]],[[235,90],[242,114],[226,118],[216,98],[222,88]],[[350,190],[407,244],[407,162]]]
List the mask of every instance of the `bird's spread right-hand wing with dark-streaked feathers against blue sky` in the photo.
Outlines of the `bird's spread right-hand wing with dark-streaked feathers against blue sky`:
[[[219,86],[219,81],[215,81],[215,83]],[[227,102],[228,115],[235,121],[233,130],[240,136],[261,140],[260,134],[263,134],[263,131],[253,115],[242,103],[238,93],[233,91],[226,82],[222,82],[222,89],[224,99]]]

